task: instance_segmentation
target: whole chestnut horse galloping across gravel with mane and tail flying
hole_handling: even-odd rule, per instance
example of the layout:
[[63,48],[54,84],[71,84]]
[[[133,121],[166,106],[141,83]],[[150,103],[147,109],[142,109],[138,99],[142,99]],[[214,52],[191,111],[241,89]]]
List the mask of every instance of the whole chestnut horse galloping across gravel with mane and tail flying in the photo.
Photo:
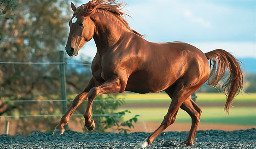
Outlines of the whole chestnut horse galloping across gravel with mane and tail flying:
[[[92,0],[76,8],[69,21],[70,32],[66,44],[69,56],[76,56],[81,47],[92,38],[97,53],[92,60],[92,78],[76,96],[67,112],[55,127],[53,135],[64,133],[64,125],[76,108],[85,100],[85,126],[95,128],[92,119],[93,99],[102,94],[132,91],[156,93],[164,91],[172,99],[160,126],[138,146],[146,147],[164,129],[174,123],[179,108],[186,111],[192,125],[188,138],[182,143],[193,145],[201,108],[191,99],[204,82],[216,86],[228,77],[221,90],[226,94],[225,110],[228,113],[232,100],[243,88],[243,74],[239,61],[225,50],[203,53],[184,42],[152,43],[132,30],[124,19],[124,3],[116,0]],[[210,61],[208,61],[210,60]]]

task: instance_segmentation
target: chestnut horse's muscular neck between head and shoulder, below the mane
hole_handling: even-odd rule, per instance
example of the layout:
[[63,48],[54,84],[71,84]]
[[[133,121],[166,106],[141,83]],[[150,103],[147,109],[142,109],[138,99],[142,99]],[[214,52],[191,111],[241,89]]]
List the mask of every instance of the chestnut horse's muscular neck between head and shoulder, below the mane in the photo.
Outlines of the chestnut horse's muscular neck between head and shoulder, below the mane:
[[[93,16],[92,16],[93,17]],[[93,36],[97,50],[112,47],[124,35],[132,32],[111,12],[100,11],[94,14],[96,31]],[[99,51],[102,52],[102,51]]]

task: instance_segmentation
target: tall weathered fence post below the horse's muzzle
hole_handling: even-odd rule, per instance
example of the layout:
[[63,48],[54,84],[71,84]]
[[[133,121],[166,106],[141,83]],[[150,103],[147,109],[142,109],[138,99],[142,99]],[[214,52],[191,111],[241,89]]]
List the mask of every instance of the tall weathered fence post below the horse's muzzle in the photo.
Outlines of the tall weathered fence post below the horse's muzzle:
[[[64,51],[59,51],[59,55],[60,55],[60,63],[64,63],[65,62]],[[61,93],[61,99],[65,100],[65,101],[61,101],[62,114],[65,114],[66,111],[68,110],[65,65],[66,64],[60,64],[60,93]],[[68,125],[65,125],[64,128],[68,129]]]

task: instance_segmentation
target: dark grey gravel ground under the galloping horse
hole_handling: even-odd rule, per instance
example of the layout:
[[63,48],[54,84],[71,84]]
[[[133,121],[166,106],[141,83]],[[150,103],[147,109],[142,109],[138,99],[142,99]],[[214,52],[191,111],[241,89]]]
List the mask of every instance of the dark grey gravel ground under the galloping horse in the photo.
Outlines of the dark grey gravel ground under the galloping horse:
[[[32,131],[30,135],[0,136],[0,149],[135,149],[150,133],[91,133],[84,134],[66,131],[61,136],[51,133]],[[197,131],[194,145],[180,145],[188,136],[188,132],[164,132],[146,149],[210,149],[241,148],[256,149],[256,129],[222,131]]]

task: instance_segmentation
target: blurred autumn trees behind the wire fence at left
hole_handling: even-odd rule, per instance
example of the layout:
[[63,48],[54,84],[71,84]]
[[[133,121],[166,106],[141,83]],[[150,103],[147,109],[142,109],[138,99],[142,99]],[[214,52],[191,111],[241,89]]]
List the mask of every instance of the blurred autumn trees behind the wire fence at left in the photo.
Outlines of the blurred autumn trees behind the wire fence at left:
[[[59,61],[58,51],[65,47],[72,16],[68,0],[1,0],[0,10],[1,62]],[[88,63],[86,59],[79,62]],[[68,67],[68,93],[83,90],[90,75],[83,66]],[[58,65],[0,64],[0,100],[59,99],[59,92]],[[59,110],[52,109],[53,103],[45,102],[0,103],[0,115],[59,114]],[[45,121],[42,118],[21,120]],[[51,125],[52,121],[48,121]]]

